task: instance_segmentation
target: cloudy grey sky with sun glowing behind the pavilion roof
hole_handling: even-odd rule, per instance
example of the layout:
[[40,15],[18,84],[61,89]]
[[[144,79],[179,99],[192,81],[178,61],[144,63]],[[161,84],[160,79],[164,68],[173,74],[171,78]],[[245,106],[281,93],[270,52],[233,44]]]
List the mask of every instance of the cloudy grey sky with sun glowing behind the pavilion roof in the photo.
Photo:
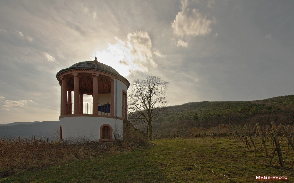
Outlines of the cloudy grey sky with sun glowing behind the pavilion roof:
[[0,123],[58,121],[56,73],[95,54],[130,83],[169,81],[168,105],[294,94],[293,9],[283,0],[0,1]]

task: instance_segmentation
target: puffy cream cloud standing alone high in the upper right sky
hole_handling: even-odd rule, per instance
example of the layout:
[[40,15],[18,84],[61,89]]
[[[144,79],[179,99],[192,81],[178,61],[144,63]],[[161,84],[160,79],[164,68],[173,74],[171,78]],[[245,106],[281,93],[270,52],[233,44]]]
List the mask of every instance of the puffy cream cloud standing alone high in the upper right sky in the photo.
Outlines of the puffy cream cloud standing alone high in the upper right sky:
[[176,15],[172,28],[178,36],[207,35],[211,32],[212,22],[203,16],[198,9],[186,9]]

